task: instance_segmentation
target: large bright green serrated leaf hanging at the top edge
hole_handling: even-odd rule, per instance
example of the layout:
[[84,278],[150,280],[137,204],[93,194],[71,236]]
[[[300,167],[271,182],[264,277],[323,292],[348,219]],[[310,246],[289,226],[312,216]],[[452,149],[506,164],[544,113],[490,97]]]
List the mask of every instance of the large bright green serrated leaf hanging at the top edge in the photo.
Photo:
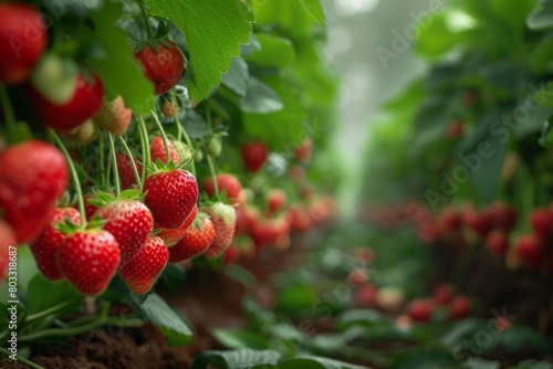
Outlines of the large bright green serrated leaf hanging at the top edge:
[[185,34],[192,70],[190,95],[207,98],[250,41],[253,14],[241,0],[145,0],[149,10],[169,19]]

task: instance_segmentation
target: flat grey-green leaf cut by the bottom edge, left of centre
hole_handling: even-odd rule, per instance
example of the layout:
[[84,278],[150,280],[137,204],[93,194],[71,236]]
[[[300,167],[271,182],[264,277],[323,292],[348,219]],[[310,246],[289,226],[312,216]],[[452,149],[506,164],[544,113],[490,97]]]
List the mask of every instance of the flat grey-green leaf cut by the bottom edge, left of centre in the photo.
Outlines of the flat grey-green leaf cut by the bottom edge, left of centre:
[[239,349],[232,351],[204,351],[196,357],[191,369],[206,369],[209,365],[216,368],[250,369],[258,365],[274,368],[280,360],[280,354],[273,350]]

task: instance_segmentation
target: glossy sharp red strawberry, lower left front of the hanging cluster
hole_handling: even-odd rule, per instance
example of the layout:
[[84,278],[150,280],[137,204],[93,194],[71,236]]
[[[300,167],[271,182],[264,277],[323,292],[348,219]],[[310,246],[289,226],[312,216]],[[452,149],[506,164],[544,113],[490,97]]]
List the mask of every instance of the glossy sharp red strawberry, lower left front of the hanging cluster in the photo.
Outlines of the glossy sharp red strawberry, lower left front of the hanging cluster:
[[84,295],[102,293],[119,264],[121,251],[112,233],[80,230],[67,235],[55,251],[63,276]]

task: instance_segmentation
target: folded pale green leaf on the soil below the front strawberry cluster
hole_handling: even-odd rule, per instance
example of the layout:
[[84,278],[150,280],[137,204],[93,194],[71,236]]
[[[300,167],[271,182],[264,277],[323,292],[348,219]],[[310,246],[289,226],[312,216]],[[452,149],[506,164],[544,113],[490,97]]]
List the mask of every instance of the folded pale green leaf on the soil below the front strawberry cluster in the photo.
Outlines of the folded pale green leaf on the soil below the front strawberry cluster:
[[192,340],[190,328],[158,295],[148,295],[136,308],[140,318],[152,321],[164,333],[170,346],[184,346]]

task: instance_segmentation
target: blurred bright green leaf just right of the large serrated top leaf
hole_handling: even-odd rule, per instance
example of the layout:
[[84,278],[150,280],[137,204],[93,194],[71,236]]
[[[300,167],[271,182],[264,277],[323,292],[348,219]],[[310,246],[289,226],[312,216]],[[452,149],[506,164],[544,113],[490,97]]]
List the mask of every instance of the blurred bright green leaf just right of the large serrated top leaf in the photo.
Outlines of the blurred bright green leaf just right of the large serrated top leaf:
[[253,62],[261,66],[279,66],[281,68],[290,66],[295,62],[294,45],[289,39],[270,33],[259,33],[258,40],[261,49],[252,52],[247,57],[248,62]]

